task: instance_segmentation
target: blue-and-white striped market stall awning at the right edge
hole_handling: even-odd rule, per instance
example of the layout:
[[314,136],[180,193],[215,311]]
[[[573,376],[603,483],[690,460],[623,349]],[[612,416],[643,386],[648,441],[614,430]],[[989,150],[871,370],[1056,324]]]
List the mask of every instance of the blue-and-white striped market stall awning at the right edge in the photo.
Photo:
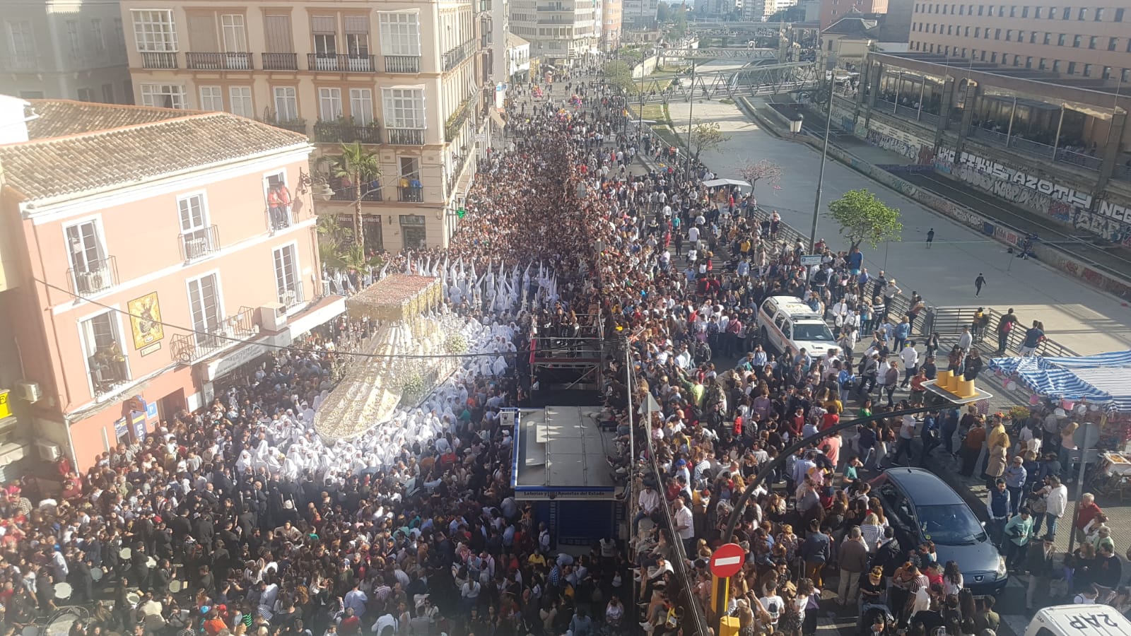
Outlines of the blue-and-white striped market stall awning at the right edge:
[[1131,351],[1070,358],[994,358],[990,368],[1056,399],[1087,399],[1131,413]]

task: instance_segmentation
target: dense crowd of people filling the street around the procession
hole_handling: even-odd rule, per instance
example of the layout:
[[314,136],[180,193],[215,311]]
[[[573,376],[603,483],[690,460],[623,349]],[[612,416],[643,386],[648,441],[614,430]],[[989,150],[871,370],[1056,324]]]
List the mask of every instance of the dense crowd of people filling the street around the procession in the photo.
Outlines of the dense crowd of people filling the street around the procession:
[[[72,636],[595,636],[636,625],[658,636],[696,630],[688,603],[717,625],[707,561],[750,480],[841,416],[921,404],[941,364],[939,340],[914,342],[922,299],[913,292],[893,310],[897,281],[871,275],[857,250],[820,244],[822,263],[802,266],[808,246],[783,240],[780,218],[750,197],[703,187],[705,166],[641,173],[636,157],[664,146],[632,127],[611,86],[564,79],[541,97],[527,92],[449,250],[399,255],[390,267],[458,259],[461,272],[526,272],[525,292],[506,301],[455,281],[447,295],[473,338],[503,336],[509,351],[525,350],[535,320],[601,324],[601,337],[629,349],[631,364],[603,364],[603,416],[620,433],[640,427],[631,461],[610,458],[629,466],[638,493],[627,502],[630,541],[558,549],[555,528],[516,499],[500,410],[532,390],[523,356],[490,370],[468,360],[420,409],[353,440],[321,440],[316,396],[375,328],[340,319],[97,465],[60,462],[58,496],[34,479],[7,488],[7,626],[63,604],[63,584],[66,603],[92,608]],[[775,295],[827,317],[828,350],[777,353],[761,342],[756,313]],[[975,377],[976,347],[960,340],[947,368]],[[650,420],[648,395],[659,405]],[[1010,566],[1038,583],[1067,578],[1081,602],[1131,604],[1098,508],[1072,521],[1085,540],[1077,553],[1051,552],[1055,533],[1069,531],[1057,523],[1067,469],[1034,440],[1067,444],[1069,424],[1034,415],[1013,445],[1002,418],[986,418],[977,409],[881,418],[787,457],[734,532],[748,558],[725,611],[741,634],[814,634],[829,596],[858,613],[862,633],[995,629],[993,599],[975,602],[960,564],[940,562],[930,541],[901,545],[865,476],[944,453],[973,474],[984,442],[990,532]],[[658,474],[642,469],[653,461]]]

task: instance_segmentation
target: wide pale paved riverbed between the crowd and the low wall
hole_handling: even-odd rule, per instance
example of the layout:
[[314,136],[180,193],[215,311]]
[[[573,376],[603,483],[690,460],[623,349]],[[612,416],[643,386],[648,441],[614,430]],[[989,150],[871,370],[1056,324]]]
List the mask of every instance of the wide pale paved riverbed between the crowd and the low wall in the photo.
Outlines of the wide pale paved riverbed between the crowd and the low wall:
[[[689,106],[673,103],[670,112],[673,121],[684,122]],[[758,203],[763,208],[777,209],[795,227],[803,231],[810,227],[820,163],[818,152],[762,130],[734,105],[698,102],[694,119],[717,121],[729,136],[722,148],[701,157],[719,177],[737,177],[735,170],[744,161],[769,158],[780,164],[785,177],[777,187],[759,183],[754,192]],[[1043,320],[1051,337],[1081,354],[1131,349],[1131,308],[1117,299],[1085,287],[1041,263],[1010,258],[996,241],[830,160],[826,165],[817,234],[835,249],[847,249],[848,244],[838,235],[826,204],[856,188],[875,191],[903,215],[903,241],[875,249],[865,247],[870,273],[888,268],[905,293],[918,291],[934,306],[1016,308],[1022,319]],[[935,240],[927,250],[923,241],[932,227]],[[979,273],[987,280],[981,298],[974,294],[974,278]]]

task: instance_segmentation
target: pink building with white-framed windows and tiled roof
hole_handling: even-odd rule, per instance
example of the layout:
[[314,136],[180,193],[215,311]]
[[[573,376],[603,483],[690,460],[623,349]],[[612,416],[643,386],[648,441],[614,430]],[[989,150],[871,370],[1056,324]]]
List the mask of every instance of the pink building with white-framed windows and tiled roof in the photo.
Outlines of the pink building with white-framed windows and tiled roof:
[[0,320],[17,359],[0,388],[16,385],[25,455],[86,469],[209,403],[262,344],[344,310],[322,291],[304,135],[219,112],[2,100]]

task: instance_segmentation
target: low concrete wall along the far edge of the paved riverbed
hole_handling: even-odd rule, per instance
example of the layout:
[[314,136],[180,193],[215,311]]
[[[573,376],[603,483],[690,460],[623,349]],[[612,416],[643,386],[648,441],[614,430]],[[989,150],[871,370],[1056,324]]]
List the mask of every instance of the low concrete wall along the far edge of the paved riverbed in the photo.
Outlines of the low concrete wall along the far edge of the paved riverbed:
[[[775,135],[785,136],[784,134],[789,130],[789,122],[776,110],[771,108],[757,109],[745,97],[740,97],[739,103],[743,111],[752,115],[759,121],[759,123],[771,130]],[[812,136],[798,136],[796,139],[802,140],[814,148],[821,148],[821,140]],[[874,179],[875,181],[879,181],[880,183],[898,191],[907,198],[913,199],[982,234],[992,237],[1002,243],[1017,247],[1020,241],[1025,239],[1025,232],[1015,230],[1013,227],[1004,225],[999,221],[982,216],[973,209],[950,199],[940,197],[934,192],[921,189],[910,181],[900,179],[898,175],[872,165],[871,163],[832,144],[829,144],[829,156],[836,158],[853,170],[861,172],[865,177]],[[1117,278],[1106,272],[1097,272],[1087,264],[1081,263],[1061,250],[1044,243],[1036,243],[1031,250],[1041,261],[1046,263],[1070,276],[1079,278],[1088,285],[1123,299],[1131,299],[1131,281]]]

